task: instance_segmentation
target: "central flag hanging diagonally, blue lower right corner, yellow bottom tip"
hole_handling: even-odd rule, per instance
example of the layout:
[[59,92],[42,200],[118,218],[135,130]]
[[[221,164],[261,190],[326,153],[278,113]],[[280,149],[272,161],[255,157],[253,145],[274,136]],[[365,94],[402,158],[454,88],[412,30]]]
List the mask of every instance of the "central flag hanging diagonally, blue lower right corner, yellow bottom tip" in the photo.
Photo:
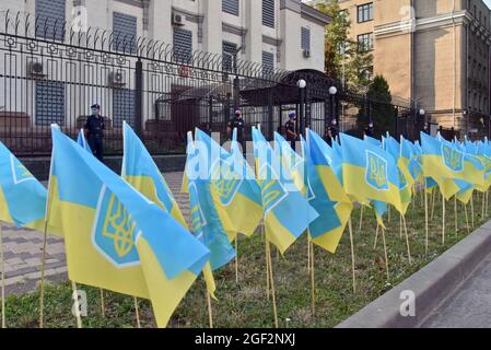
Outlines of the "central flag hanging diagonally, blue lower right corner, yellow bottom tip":
[[256,174],[261,189],[266,237],[281,254],[318,217],[295,186],[283,185],[287,170],[262,133],[253,128]]

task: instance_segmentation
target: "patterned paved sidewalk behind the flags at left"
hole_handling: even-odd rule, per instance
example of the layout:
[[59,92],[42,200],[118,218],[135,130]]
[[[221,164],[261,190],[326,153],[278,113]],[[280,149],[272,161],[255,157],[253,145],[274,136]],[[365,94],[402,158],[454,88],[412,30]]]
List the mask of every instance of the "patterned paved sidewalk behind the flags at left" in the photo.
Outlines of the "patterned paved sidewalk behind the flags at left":
[[[165,174],[165,179],[175,195],[185,218],[189,213],[189,201],[180,194],[183,173]],[[40,279],[43,233],[2,225],[7,293],[32,291]],[[49,281],[67,278],[63,240],[48,236],[45,276]]]

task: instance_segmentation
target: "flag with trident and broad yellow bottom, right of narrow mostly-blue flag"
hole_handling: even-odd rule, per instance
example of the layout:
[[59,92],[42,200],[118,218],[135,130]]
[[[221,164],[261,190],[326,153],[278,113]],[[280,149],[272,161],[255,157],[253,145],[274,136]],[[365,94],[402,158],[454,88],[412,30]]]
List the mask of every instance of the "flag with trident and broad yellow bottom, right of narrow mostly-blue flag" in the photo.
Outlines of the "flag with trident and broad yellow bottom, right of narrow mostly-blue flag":
[[206,152],[203,155],[210,160],[210,191],[229,237],[235,240],[238,232],[252,236],[262,218],[260,189],[254,173],[247,174],[236,140],[231,149],[237,150],[230,153],[197,129],[196,142],[203,145],[200,152]]

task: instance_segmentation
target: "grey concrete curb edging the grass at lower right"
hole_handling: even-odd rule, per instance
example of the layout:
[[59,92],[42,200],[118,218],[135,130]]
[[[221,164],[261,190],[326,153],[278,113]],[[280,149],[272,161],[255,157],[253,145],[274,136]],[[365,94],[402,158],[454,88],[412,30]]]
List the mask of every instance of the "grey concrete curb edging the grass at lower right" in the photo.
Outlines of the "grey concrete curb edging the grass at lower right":
[[[490,253],[491,221],[336,328],[419,327]],[[404,291],[414,293],[416,317],[400,315]]]

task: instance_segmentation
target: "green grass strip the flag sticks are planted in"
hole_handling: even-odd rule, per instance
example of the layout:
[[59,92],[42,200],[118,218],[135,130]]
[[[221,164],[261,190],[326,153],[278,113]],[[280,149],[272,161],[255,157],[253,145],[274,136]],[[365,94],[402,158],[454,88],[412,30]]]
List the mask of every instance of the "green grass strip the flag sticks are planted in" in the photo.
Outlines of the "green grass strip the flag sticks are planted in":
[[[475,226],[482,218],[481,194],[475,194]],[[429,200],[430,202],[430,200]],[[433,260],[458,241],[467,236],[464,206],[458,203],[455,230],[454,201],[446,205],[446,240],[442,245],[442,205],[436,199],[434,218],[430,220],[430,252],[424,252],[424,206],[422,196],[410,206],[407,224],[410,236],[412,264],[407,256],[406,240],[399,236],[399,217],[391,210],[386,240],[390,279],[387,281],[382,240],[374,249],[376,221],[371,210],[364,210],[362,230],[360,209],[352,214],[355,250],[356,293],[352,291],[351,248],[348,230],[338,253],[331,255],[315,248],[316,315],[311,311],[311,277],[307,271],[307,238],[305,235],[278,257],[273,249],[273,276],[277,291],[280,327],[334,327],[356,313],[363,306],[400,283],[424,265]],[[430,206],[430,205],[429,205]],[[430,207],[431,208],[431,207]],[[431,210],[431,209],[430,209]],[[470,206],[467,207],[470,225]],[[474,231],[471,229],[471,231]],[[381,238],[381,237],[379,237]],[[266,298],[265,242],[261,234],[253,238],[241,237],[238,243],[239,283],[235,282],[235,267],[215,273],[218,302],[212,303],[214,327],[272,327],[272,304]],[[136,327],[133,299],[105,291],[105,317],[101,313],[100,290],[79,285],[86,291],[89,316],[83,317],[84,327]],[[9,327],[37,327],[38,291],[9,295],[7,299],[7,324]],[[75,327],[71,314],[71,285],[69,282],[49,285],[45,293],[45,327]],[[140,300],[142,327],[154,327],[150,302]],[[208,327],[206,289],[199,278],[174,313],[169,327]]]

